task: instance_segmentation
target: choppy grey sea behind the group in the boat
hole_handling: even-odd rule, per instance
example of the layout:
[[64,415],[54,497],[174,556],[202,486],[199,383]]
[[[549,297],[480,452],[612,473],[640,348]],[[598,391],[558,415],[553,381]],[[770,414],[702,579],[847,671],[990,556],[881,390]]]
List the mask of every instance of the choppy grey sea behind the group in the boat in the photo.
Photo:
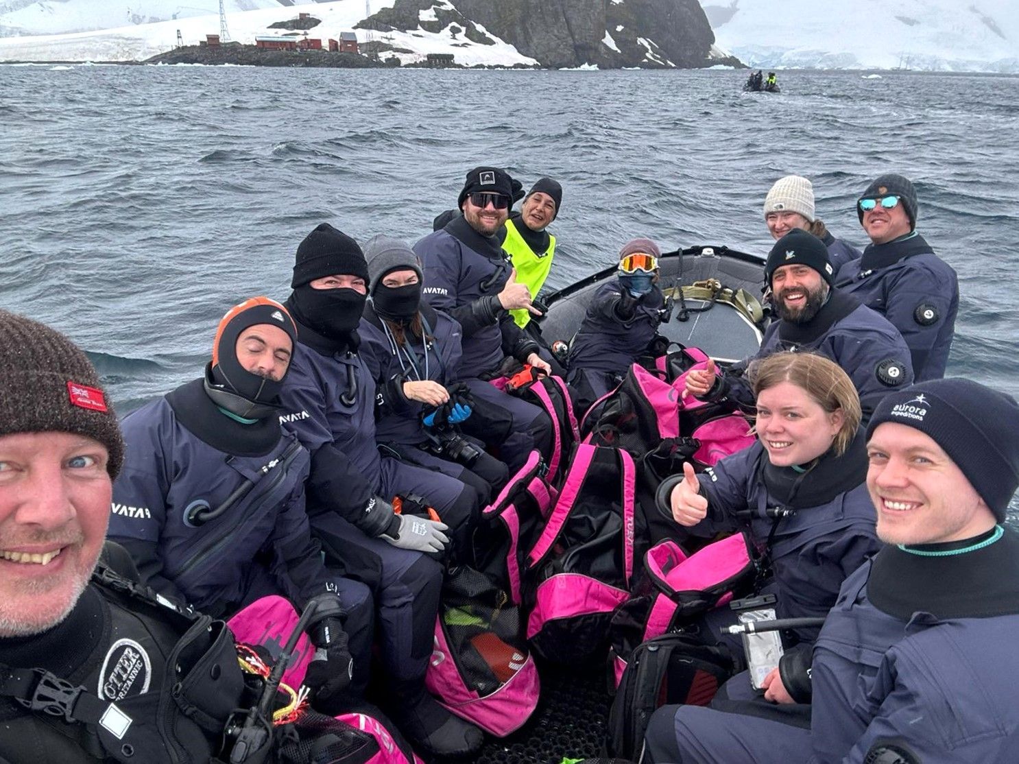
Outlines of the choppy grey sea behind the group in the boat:
[[561,181],[549,285],[628,238],[765,255],[761,204],[812,178],[835,235],[865,235],[875,175],[917,186],[959,273],[949,373],[1019,395],[1019,77],[740,71],[0,66],[0,305],[87,348],[121,411],[197,376],[226,309],[283,298],[329,221],[413,242],[464,174]]

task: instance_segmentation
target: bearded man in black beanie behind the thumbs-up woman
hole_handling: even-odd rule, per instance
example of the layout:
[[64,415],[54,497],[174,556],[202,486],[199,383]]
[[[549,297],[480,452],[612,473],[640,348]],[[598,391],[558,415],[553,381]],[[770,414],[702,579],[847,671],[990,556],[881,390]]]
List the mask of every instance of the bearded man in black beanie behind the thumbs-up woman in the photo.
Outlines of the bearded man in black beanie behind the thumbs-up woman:
[[753,358],[721,374],[713,363],[706,371],[690,372],[685,394],[752,411],[749,364],[780,350],[812,350],[853,380],[866,422],[881,398],[913,381],[913,367],[892,324],[852,294],[832,288],[834,271],[827,248],[816,236],[794,228],[775,241],[764,277],[779,320],[768,325]]

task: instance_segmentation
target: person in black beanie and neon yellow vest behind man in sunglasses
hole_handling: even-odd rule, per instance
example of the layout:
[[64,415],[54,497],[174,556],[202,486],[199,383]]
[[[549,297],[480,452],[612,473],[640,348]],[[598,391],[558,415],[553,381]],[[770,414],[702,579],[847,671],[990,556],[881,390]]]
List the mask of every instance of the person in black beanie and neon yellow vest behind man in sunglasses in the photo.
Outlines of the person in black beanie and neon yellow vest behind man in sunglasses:
[[[555,220],[561,202],[562,186],[549,177],[543,177],[524,197],[521,211],[509,214],[502,229],[502,249],[513,259],[517,281],[527,286],[532,297],[538,294],[552,267],[555,236],[546,228]],[[521,328],[531,320],[526,310],[509,313]]]

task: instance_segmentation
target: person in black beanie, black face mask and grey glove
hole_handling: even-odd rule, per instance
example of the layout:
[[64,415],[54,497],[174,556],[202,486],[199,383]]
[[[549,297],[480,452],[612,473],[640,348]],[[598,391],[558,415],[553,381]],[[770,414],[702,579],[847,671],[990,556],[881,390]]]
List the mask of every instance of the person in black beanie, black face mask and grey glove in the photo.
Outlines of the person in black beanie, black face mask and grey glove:
[[[425,692],[448,532],[477,515],[477,493],[463,483],[381,456],[375,442],[375,382],[359,354],[368,267],[358,243],[328,223],[298,247],[286,306],[298,344],[280,398],[281,422],[312,454],[308,513],[331,565],[375,595],[386,711],[415,745],[461,756],[482,743],[477,727]],[[433,507],[439,521],[392,502]]]

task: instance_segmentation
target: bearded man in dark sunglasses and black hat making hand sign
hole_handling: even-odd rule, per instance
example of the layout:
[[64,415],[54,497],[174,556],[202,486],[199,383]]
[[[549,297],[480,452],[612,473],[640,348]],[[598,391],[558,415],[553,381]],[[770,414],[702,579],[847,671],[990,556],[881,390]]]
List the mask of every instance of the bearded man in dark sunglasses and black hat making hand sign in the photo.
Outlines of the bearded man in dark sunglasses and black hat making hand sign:
[[537,406],[489,384],[502,376],[507,360],[551,373],[538,354],[538,343],[509,314],[512,310],[540,314],[531,305],[531,290],[517,280],[517,271],[499,244],[497,234],[512,202],[509,175],[495,167],[474,168],[467,173],[458,199],[463,214],[419,240],[414,252],[424,267],[425,302],[463,328],[458,381],[470,388],[476,406],[462,427],[494,449],[515,472],[532,449],[548,454],[552,424]]

